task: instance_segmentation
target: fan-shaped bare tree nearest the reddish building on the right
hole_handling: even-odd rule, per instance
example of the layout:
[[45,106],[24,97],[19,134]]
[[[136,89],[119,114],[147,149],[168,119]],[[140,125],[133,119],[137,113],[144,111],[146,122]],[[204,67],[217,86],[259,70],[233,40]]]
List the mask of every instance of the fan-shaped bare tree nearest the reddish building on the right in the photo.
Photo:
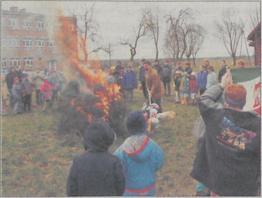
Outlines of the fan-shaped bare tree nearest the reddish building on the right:
[[222,23],[215,21],[217,37],[223,42],[228,53],[233,58],[234,65],[236,65],[236,51],[244,25],[233,19],[232,10],[224,10],[222,15]]

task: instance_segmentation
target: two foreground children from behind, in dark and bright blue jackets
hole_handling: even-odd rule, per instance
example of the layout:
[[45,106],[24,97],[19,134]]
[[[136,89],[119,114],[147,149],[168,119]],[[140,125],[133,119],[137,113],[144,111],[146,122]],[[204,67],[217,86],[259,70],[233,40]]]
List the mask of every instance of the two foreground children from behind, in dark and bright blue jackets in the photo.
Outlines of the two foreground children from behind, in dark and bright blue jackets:
[[164,164],[163,150],[144,132],[146,120],[141,111],[126,119],[131,134],[114,152],[108,148],[116,135],[100,119],[85,132],[85,152],[77,155],[69,168],[67,196],[153,196],[156,172]]

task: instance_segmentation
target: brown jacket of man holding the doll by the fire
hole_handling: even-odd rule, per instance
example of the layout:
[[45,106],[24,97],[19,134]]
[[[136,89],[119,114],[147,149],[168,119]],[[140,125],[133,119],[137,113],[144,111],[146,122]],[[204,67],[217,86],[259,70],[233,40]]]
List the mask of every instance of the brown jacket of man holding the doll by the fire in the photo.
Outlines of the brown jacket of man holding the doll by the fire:
[[165,88],[163,82],[160,80],[157,72],[150,68],[148,72],[145,72],[146,87],[150,90],[152,99],[158,100],[165,94]]

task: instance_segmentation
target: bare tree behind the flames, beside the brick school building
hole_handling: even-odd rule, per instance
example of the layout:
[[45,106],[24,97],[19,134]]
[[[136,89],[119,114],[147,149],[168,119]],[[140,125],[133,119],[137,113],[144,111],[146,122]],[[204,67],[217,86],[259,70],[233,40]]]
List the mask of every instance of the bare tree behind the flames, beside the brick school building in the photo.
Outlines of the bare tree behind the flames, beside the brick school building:
[[[73,11],[74,12],[74,11]],[[85,54],[85,62],[87,62],[87,56],[91,53],[96,53],[102,49],[101,46],[87,50],[87,44],[96,43],[99,35],[99,24],[94,19],[94,4],[91,7],[83,7],[81,13],[78,15],[78,37],[80,39],[79,45]]]

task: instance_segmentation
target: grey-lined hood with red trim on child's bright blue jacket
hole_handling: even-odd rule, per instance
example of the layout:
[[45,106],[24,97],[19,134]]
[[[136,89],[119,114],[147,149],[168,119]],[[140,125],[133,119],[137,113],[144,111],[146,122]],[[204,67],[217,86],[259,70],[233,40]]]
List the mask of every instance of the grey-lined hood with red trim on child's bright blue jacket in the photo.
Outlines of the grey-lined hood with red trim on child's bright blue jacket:
[[137,162],[145,162],[149,159],[151,152],[150,145],[148,145],[150,138],[146,135],[136,134],[125,140],[123,143],[123,150],[131,159]]

